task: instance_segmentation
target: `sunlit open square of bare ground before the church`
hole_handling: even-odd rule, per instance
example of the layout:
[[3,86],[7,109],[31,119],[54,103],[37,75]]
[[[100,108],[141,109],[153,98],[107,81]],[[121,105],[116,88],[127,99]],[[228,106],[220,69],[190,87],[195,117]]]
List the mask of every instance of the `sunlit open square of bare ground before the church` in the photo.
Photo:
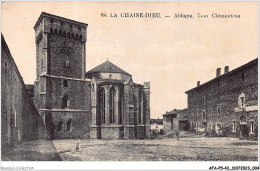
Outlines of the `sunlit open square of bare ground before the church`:
[[[65,161],[257,161],[256,141],[199,135],[156,140],[54,140]],[[80,152],[75,151],[80,143]]]

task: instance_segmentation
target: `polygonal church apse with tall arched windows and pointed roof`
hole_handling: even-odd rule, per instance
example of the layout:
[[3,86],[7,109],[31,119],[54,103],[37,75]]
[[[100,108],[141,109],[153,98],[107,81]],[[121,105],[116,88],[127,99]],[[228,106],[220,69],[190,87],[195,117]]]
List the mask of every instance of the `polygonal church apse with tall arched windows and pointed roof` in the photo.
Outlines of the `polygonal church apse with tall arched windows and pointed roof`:
[[86,73],[91,79],[91,138],[149,138],[150,83],[136,84],[132,76],[110,61]]

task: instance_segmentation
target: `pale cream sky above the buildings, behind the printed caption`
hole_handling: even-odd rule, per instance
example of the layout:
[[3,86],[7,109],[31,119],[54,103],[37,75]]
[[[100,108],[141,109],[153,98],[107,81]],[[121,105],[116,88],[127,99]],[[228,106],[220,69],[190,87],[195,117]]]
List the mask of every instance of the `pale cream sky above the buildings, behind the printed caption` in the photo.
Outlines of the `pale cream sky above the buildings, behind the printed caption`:
[[[134,82],[150,81],[151,118],[187,108],[185,91],[197,81],[205,83],[216,76],[216,68],[233,70],[258,54],[257,1],[2,2],[1,31],[26,84],[36,78],[33,26],[43,11],[88,24],[86,71],[108,58]],[[121,13],[160,13],[161,18]],[[177,13],[194,18],[174,18]],[[213,13],[240,18],[212,18]]]

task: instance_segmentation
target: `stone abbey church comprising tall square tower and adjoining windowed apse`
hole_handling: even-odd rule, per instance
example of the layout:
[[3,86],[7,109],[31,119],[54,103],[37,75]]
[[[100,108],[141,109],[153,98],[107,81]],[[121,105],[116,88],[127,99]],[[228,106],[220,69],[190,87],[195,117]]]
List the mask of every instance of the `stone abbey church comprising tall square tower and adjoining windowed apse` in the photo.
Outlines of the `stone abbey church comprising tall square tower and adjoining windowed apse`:
[[32,112],[40,116],[44,136],[149,138],[150,82],[134,83],[109,60],[86,72],[87,26],[45,12],[34,26],[37,73],[31,99],[37,111]]

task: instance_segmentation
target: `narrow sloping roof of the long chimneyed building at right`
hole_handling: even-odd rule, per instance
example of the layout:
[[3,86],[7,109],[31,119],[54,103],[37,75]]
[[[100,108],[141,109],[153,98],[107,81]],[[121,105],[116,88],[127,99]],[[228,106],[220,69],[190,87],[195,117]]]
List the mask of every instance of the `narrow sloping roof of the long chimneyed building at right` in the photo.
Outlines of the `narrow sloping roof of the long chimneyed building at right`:
[[216,80],[218,80],[218,79],[220,79],[220,78],[227,77],[227,76],[229,76],[229,75],[231,75],[231,74],[233,74],[233,73],[235,73],[235,72],[237,72],[237,71],[239,71],[239,70],[242,70],[242,69],[244,69],[244,68],[247,68],[248,66],[257,65],[257,64],[258,64],[258,58],[254,59],[254,60],[252,60],[252,61],[250,61],[250,62],[248,62],[248,63],[246,63],[246,64],[244,64],[244,65],[242,65],[242,66],[240,66],[240,67],[238,67],[238,68],[236,68],[236,69],[230,71],[230,72],[227,72],[227,73],[222,74],[222,75],[220,75],[220,76],[218,76],[218,77],[215,77],[215,78],[213,78],[213,79],[211,79],[211,80],[209,80],[209,81],[207,81],[207,82],[201,84],[200,86],[194,87],[194,88],[192,88],[192,89],[186,91],[185,93],[187,94],[188,92],[190,92],[190,91],[192,91],[192,90],[195,90],[195,89],[197,89],[197,88],[203,87],[203,86],[205,86],[206,84],[209,84],[209,83],[211,83],[211,82],[213,82],[213,81],[216,81]]

